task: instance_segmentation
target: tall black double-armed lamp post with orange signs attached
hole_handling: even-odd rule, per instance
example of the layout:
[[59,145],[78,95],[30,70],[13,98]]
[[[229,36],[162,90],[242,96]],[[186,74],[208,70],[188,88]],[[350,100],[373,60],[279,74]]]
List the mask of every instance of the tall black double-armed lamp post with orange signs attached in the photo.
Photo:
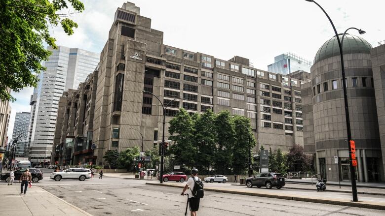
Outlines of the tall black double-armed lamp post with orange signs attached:
[[[342,35],[342,39],[340,41],[340,37],[338,36],[339,34],[338,34],[337,30],[336,30],[336,27],[334,26],[332,20],[330,19],[329,15],[326,13],[326,11],[317,2],[315,2],[314,0],[306,0],[306,1],[315,3],[325,13],[325,15],[327,16],[327,18],[330,21],[330,24],[333,27],[334,33],[336,34],[336,38],[337,38],[337,41],[338,41],[338,46],[340,48],[341,70],[342,70],[342,80],[343,80],[342,86],[343,86],[343,89],[344,89],[344,102],[345,102],[347,146],[348,146],[348,150],[349,150],[349,162],[350,162],[351,190],[352,190],[352,194],[353,194],[353,202],[357,202],[358,201],[358,197],[357,197],[357,186],[356,186],[356,183],[355,183],[355,169],[353,167],[353,161],[351,159],[351,148],[350,148],[351,131],[350,131],[349,108],[348,108],[348,104],[347,104],[347,91],[346,91],[346,82],[345,82],[346,78],[345,78],[345,66],[344,66],[344,53],[343,53],[343,50],[342,50],[342,45],[343,45],[342,42],[344,42],[344,37],[345,37],[346,31],[348,31],[349,29],[355,29],[360,34],[364,34],[365,31],[362,31],[362,30],[356,29],[356,28],[349,28],[349,29],[347,29],[344,32],[344,34]],[[338,177],[338,178],[340,178],[340,177]]]

